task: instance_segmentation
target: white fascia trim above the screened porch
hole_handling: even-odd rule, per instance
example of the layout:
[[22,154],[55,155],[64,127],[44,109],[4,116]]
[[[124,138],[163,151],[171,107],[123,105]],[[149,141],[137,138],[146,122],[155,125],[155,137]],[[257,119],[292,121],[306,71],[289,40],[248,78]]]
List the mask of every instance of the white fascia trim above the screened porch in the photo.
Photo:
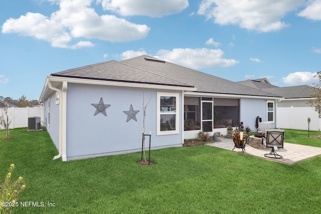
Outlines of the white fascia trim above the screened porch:
[[253,98],[253,99],[267,99],[267,100],[284,100],[283,97],[266,97],[266,96],[250,96],[238,94],[218,94],[218,93],[201,93],[201,92],[185,92],[184,96],[196,97],[222,97],[222,98]]

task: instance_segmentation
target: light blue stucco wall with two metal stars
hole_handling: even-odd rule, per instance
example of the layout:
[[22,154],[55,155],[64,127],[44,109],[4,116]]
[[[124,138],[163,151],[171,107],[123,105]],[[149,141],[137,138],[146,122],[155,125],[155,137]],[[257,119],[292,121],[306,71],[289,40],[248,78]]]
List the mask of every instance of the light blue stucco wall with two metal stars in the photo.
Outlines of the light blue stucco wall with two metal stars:
[[[156,136],[156,93],[181,91],[144,89],[146,108],[145,133],[151,130],[151,147],[163,148],[182,146],[180,134]],[[99,113],[94,116],[96,108],[92,103],[99,103],[100,98],[106,109],[107,116]],[[117,86],[100,86],[68,83],[67,90],[67,160],[128,153],[141,150],[143,109],[143,89]],[[128,111],[132,105],[137,122],[133,119],[126,122]],[[181,108],[181,106],[180,106]],[[182,127],[180,112],[180,127]],[[146,147],[149,138],[146,137]]]

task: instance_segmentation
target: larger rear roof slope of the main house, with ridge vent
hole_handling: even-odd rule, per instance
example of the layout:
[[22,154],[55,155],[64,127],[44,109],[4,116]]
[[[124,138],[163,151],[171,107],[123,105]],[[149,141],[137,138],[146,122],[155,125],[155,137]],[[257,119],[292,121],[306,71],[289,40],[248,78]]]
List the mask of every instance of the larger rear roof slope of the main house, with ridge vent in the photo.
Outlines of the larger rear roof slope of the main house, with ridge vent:
[[233,95],[250,95],[250,96],[267,96],[280,97],[278,95],[257,90],[242,84],[238,84],[226,79],[222,79],[210,74],[176,65],[170,62],[162,61],[147,55],[120,61],[122,64],[130,65],[162,75],[164,77],[173,78],[188,85],[197,88],[196,92],[233,94]]

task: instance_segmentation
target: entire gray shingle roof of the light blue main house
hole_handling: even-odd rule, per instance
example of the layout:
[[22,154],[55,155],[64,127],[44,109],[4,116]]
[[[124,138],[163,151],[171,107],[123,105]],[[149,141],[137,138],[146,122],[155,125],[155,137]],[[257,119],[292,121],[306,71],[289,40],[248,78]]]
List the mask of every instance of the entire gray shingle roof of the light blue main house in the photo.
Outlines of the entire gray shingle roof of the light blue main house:
[[197,92],[279,97],[210,74],[142,55],[120,62],[111,60],[51,74],[56,77],[195,87]]

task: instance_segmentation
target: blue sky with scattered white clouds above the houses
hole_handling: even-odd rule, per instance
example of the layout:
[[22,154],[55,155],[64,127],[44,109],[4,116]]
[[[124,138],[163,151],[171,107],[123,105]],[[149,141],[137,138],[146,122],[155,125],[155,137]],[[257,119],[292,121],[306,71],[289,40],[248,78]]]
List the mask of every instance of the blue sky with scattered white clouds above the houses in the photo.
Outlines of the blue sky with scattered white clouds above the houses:
[[311,85],[321,0],[2,0],[0,96],[38,99],[52,73],[142,54],[231,81]]

